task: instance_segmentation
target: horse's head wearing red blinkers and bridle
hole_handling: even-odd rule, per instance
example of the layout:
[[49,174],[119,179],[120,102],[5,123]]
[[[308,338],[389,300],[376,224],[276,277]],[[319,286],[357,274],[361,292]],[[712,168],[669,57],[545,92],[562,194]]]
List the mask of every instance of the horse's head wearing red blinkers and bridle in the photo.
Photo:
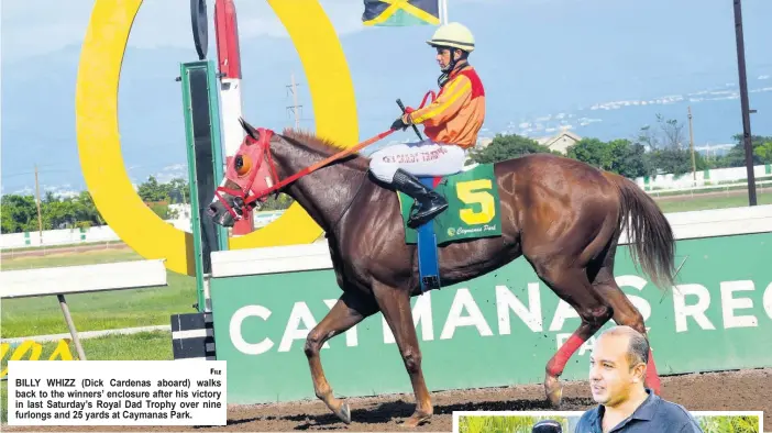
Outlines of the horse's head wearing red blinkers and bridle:
[[225,165],[225,176],[209,204],[209,216],[214,223],[230,227],[241,220],[247,208],[260,207],[271,187],[278,182],[276,166],[271,157],[269,130],[255,129],[239,119],[246,136]]

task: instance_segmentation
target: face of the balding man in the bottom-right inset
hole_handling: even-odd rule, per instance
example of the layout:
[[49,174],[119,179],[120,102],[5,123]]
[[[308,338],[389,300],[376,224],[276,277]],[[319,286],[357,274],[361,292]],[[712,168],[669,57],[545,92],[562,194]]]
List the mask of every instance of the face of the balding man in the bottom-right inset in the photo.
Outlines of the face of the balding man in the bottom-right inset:
[[627,400],[636,387],[643,386],[646,366],[631,368],[628,344],[625,335],[603,335],[596,342],[589,356],[589,387],[597,403],[617,406]]

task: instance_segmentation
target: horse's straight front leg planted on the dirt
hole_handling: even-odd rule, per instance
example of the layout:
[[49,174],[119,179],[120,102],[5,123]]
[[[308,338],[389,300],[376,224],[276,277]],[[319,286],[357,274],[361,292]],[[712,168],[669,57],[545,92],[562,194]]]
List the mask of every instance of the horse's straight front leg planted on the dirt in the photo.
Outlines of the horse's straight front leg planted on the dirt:
[[373,292],[384,319],[391,329],[394,340],[405,362],[405,368],[410,376],[412,391],[416,396],[416,411],[402,425],[415,428],[432,417],[433,408],[421,369],[421,348],[418,346],[416,326],[412,324],[410,295],[407,290],[379,282],[373,285]]

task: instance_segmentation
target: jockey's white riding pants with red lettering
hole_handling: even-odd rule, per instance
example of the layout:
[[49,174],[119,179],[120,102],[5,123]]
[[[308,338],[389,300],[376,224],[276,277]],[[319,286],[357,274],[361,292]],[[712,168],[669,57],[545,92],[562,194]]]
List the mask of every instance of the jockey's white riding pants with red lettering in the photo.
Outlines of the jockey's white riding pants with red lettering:
[[424,140],[394,144],[374,152],[370,170],[377,179],[390,184],[398,168],[415,176],[446,176],[461,171],[465,159],[463,147]]

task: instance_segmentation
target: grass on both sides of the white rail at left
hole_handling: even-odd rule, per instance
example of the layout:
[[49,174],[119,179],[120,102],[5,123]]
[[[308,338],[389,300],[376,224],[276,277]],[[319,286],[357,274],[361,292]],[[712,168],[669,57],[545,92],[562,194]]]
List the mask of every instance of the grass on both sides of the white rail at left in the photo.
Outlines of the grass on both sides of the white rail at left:
[[[68,253],[3,260],[3,270],[135,260],[131,251]],[[195,312],[196,279],[167,271],[168,287],[77,293],[66,297],[78,331],[166,325],[169,315]],[[30,318],[34,318],[33,321]],[[67,333],[56,297],[4,299],[3,338]]]

